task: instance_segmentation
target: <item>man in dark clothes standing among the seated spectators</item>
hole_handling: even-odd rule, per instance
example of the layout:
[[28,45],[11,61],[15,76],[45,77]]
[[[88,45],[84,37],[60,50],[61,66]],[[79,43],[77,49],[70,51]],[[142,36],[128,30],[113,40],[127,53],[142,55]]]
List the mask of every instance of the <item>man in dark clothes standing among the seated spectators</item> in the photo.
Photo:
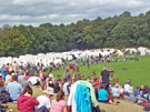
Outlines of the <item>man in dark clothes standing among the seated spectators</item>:
[[101,82],[101,79],[102,79],[102,84],[104,84],[104,90],[109,90],[109,79],[110,79],[110,74],[109,72],[107,71],[107,67],[103,67],[103,71],[101,71],[101,74],[100,74],[100,82]]

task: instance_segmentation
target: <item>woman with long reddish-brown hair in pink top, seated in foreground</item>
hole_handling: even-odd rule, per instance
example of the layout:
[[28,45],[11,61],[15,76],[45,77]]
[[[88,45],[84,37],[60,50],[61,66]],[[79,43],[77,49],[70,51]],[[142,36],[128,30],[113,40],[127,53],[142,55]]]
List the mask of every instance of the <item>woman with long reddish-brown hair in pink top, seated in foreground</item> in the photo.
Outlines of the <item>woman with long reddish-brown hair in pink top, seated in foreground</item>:
[[64,101],[63,91],[59,91],[57,99],[51,102],[50,112],[67,112],[67,102]]

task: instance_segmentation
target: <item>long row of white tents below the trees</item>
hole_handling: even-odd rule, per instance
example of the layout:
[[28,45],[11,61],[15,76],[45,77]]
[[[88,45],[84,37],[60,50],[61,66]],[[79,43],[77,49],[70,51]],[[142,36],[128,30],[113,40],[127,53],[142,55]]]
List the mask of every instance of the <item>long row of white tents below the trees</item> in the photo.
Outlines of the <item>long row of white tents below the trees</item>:
[[[140,47],[137,49],[134,48],[127,48],[126,51],[129,51],[130,53],[132,52],[140,52],[141,55],[146,55],[146,52],[149,52],[150,54],[150,50],[148,50],[147,48]],[[84,50],[84,51],[68,51],[68,52],[49,52],[49,53],[39,53],[37,55],[33,54],[26,54],[26,55],[20,55],[19,58],[12,58],[12,57],[2,57],[0,58],[0,68],[3,64],[12,64],[14,61],[19,64],[19,65],[27,65],[28,62],[32,63],[32,64],[38,64],[38,63],[43,63],[43,65],[49,65],[49,63],[53,62],[54,64],[57,63],[61,63],[62,59],[64,60],[72,60],[72,54],[74,54],[76,58],[81,59],[84,57],[99,57],[99,54],[101,54],[102,57],[107,57],[110,55],[110,53],[116,53],[116,54],[120,54],[123,55],[123,52],[121,50],[116,50],[116,49],[94,49],[94,50]]]

